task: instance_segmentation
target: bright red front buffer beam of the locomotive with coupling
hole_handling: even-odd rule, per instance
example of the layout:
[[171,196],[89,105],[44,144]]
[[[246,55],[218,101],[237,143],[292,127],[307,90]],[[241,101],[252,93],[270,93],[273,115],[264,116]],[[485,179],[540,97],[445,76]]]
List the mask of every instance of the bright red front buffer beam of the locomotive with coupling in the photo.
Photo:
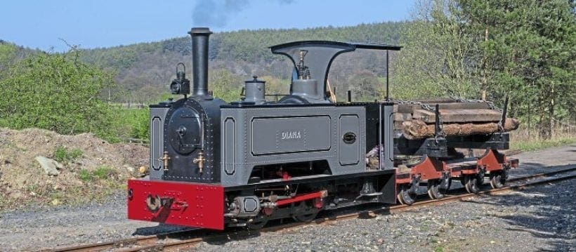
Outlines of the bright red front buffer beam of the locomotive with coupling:
[[128,180],[128,218],[224,229],[221,185],[162,180]]

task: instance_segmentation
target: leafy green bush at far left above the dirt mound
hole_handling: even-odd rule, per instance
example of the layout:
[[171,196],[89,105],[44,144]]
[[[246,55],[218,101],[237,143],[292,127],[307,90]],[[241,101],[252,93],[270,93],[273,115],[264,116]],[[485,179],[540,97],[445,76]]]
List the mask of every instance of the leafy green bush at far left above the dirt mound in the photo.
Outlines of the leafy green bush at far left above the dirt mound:
[[34,55],[0,80],[0,126],[45,128],[60,134],[109,131],[110,105],[100,92],[112,78],[77,55]]

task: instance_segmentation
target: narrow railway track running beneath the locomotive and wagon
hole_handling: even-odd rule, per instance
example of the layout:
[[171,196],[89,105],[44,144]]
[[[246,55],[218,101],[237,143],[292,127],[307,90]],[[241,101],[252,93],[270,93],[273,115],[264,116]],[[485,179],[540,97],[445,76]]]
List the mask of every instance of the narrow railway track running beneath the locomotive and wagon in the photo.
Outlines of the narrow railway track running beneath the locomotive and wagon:
[[[561,170],[551,171],[548,173],[537,173],[534,175],[528,175],[520,178],[511,178],[507,182],[508,185],[504,187],[497,189],[483,190],[478,194],[462,193],[456,195],[447,195],[443,199],[430,199],[424,201],[417,201],[412,205],[395,205],[390,206],[388,208],[380,207],[367,211],[357,211],[355,213],[332,215],[329,217],[318,218],[316,220],[313,220],[311,223],[288,223],[288,224],[274,225],[271,227],[264,227],[263,229],[258,230],[257,232],[274,232],[277,230],[285,230],[288,228],[300,227],[303,225],[332,223],[339,220],[358,218],[358,216],[360,215],[376,215],[379,213],[400,213],[403,211],[410,211],[414,208],[445,204],[446,202],[459,201],[469,197],[477,197],[479,195],[492,195],[511,190],[521,190],[525,187],[531,187],[535,185],[542,185],[546,183],[553,183],[561,180],[570,180],[572,178],[576,178],[576,174],[549,178],[554,175],[562,173],[570,173],[572,171],[576,171],[576,167],[564,168]],[[538,178],[543,179],[536,180]],[[511,183],[516,184],[511,185]],[[462,191],[462,189],[452,190],[452,192],[454,191]],[[79,246],[53,248],[50,250],[43,250],[43,251],[123,251],[123,252],[126,251],[127,252],[127,251],[176,250],[180,248],[190,248],[192,246],[195,246],[195,244],[199,244],[202,241],[206,241],[207,239],[209,240],[240,239],[242,237],[249,237],[251,234],[254,234],[254,231],[235,230],[228,232],[213,232],[208,230],[185,230],[165,234],[150,235],[145,237],[120,239],[117,241],[108,241],[98,244],[85,244]]]

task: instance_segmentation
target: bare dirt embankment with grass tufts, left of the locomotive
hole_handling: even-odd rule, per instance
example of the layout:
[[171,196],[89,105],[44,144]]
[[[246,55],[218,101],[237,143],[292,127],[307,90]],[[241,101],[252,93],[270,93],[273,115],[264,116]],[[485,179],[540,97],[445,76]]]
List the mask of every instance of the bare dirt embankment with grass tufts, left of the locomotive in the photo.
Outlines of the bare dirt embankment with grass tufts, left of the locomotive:
[[[48,175],[38,156],[59,161],[58,175]],[[141,145],[110,144],[89,133],[0,128],[0,211],[98,200],[124,188],[133,169],[147,163],[148,148]]]

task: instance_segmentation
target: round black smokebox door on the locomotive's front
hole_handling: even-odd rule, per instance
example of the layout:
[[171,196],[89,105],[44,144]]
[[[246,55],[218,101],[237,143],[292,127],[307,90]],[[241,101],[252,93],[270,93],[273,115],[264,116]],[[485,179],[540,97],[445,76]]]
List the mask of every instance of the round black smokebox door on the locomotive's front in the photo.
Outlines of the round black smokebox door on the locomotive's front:
[[171,147],[179,154],[190,154],[200,147],[201,126],[200,115],[190,107],[176,110],[168,125],[168,135]]

